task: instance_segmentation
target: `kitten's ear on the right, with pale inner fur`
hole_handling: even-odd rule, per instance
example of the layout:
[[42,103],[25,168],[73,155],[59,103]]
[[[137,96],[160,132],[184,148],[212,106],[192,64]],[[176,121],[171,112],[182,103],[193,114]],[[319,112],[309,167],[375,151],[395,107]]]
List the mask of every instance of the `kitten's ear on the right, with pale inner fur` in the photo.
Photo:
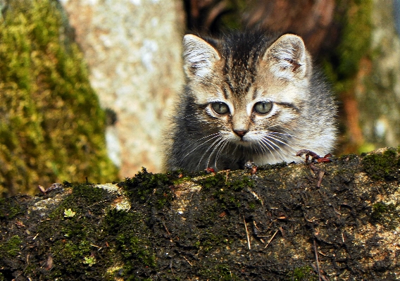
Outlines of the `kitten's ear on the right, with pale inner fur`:
[[263,61],[278,78],[303,78],[311,70],[303,39],[297,35],[282,35],[265,51]]

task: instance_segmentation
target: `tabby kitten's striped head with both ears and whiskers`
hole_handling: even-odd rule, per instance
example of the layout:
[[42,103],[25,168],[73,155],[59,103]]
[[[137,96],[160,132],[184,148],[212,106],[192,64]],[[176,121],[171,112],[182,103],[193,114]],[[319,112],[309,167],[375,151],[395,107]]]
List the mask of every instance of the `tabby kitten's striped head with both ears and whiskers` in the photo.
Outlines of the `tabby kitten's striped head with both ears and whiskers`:
[[289,145],[312,73],[300,37],[252,34],[222,41],[185,35],[183,44],[187,94],[207,124],[203,130],[265,151]]

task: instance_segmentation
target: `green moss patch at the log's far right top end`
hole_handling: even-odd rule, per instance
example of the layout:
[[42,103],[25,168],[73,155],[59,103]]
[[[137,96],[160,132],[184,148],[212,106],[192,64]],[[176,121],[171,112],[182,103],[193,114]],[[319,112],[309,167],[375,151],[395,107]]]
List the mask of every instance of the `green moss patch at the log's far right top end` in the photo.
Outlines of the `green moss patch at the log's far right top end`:
[[396,149],[387,149],[382,154],[370,154],[362,161],[365,173],[374,180],[394,180],[399,175],[400,158]]

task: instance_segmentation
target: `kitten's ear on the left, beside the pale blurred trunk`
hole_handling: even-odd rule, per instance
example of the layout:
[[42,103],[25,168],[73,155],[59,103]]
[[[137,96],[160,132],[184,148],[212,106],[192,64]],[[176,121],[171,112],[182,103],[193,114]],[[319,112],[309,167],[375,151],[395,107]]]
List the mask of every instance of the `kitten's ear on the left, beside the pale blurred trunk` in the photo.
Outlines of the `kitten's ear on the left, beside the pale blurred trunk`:
[[220,60],[218,51],[195,35],[183,37],[184,69],[187,77],[206,77],[213,71],[213,65]]

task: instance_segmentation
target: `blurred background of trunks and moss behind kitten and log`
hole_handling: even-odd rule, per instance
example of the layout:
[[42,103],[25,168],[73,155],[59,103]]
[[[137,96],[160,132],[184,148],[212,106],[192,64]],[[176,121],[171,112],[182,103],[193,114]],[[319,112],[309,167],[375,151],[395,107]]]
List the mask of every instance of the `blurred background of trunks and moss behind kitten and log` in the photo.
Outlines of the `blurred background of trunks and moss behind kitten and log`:
[[0,0],[0,194],[162,171],[182,35],[304,38],[339,100],[335,154],[400,144],[400,0]]

